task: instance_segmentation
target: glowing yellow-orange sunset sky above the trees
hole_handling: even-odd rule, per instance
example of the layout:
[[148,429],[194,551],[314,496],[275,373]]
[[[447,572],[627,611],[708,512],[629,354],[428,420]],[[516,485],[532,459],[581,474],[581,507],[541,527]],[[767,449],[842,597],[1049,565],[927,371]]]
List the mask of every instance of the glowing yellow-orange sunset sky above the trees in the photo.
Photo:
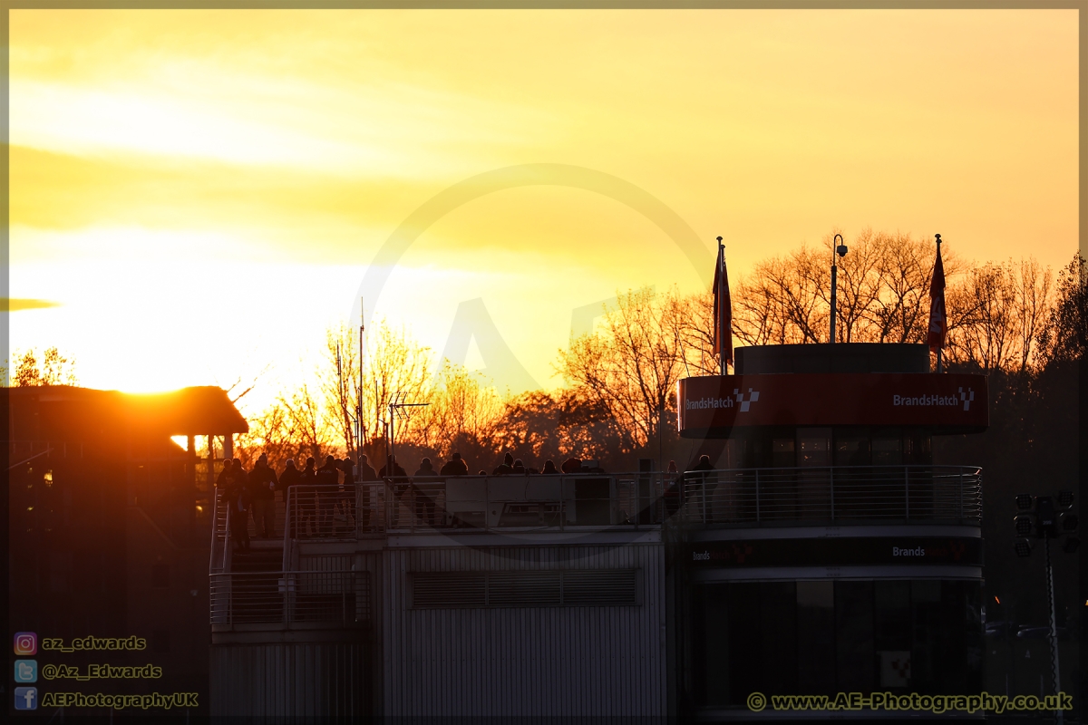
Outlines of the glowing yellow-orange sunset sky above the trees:
[[1077,248],[1072,10],[17,10],[10,37],[10,295],[51,303],[10,343],[89,387],[271,365],[262,407],[406,217],[520,164],[638,187],[706,259],[577,171],[420,229],[374,313],[437,355],[480,298],[546,388],[574,309],[697,289],[718,235],[734,284],[837,226],[1055,270]]

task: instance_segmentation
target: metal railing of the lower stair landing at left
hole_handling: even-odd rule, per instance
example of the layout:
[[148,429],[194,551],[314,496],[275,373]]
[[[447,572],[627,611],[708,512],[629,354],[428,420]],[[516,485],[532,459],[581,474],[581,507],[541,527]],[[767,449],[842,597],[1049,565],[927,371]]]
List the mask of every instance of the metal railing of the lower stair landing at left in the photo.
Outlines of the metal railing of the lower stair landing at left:
[[341,624],[370,620],[369,572],[224,572],[209,584],[211,624]]

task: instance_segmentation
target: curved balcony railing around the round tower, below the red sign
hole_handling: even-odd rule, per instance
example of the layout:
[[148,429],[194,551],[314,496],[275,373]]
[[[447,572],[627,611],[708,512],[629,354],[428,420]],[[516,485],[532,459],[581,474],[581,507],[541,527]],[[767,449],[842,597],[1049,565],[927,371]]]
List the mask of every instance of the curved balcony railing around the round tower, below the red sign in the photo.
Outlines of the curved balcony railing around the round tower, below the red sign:
[[689,472],[680,492],[693,524],[926,520],[977,524],[977,466],[827,466]]

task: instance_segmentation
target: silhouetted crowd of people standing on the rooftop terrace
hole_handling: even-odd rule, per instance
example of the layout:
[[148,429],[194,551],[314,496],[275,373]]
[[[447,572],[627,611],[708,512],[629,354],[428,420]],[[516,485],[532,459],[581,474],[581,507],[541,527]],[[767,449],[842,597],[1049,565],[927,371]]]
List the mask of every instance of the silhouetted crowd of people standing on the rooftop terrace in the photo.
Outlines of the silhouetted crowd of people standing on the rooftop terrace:
[[[288,460],[284,470],[279,474],[269,465],[268,455],[262,453],[250,471],[246,471],[238,459],[227,459],[223,462],[223,470],[217,478],[215,486],[222,491],[221,500],[230,507],[231,536],[236,541],[238,548],[248,551],[250,548],[249,518],[252,517],[254,530],[257,538],[275,538],[275,501],[276,493],[281,500],[286,502],[288,496],[293,497],[297,510],[292,516],[292,536],[331,536],[334,532],[336,509],[339,508],[345,520],[355,522],[366,528],[370,523],[370,507],[362,504],[359,511],[356,510],[357,482],[379,482],[390,480],[393,496],[403,501],[412,491],[415,495],[415,513],[418,520],[426,524],[435,524],[435,501],[433,496],[426,495],[428,480],[444,479],[449,476],[469,475],[469,465],[461,458],[460,453],[454,452],[449,460],[442,463],[437,470],[430,458],[424,458],[419,465],[419,470],[408,476],[408,472],[397,462],[396,455],[390,455],[385,464],[374,471],[370,465],[366,454],[361,454],[359,460],[359,471],[356,472],[356,464],[350,459],[338,460],[333,455],[326,455],[324,464],[318,467],[317,459],[310,457],[306,459],[302,468],[295,465],[294,460]],[[709,459],[703,455],[692,471],[709,471],[713,468]],[[577,458],[569,458],[556,467],[555,462],[546,460],[540,468],[527,466],[521,459],[515,459],[511,453],[507,453],[503,461],[496,465],[491,474],[486,470],[480,470],[480,476],[505,476],[505,475],[559,475],[579,473],[605,473],[596,461],[582,461]],[[668,475],[672,476],[673,484],[679,483],[676,463],[669,461]],[[294,493],[290,493],[293,486],[301,486]],[[318,487],[318,488],[312,488]],[[368,493],[369,496],[369,493]],[[675,512],[679,505],[678,487],[670,486],[665,491],[666,505],[669,513]],[[394,516],[399,516],[399,507],[394,507]],[[396,526],[396,521],[391,522]],[[281,534],[282,535],[282,534]]]

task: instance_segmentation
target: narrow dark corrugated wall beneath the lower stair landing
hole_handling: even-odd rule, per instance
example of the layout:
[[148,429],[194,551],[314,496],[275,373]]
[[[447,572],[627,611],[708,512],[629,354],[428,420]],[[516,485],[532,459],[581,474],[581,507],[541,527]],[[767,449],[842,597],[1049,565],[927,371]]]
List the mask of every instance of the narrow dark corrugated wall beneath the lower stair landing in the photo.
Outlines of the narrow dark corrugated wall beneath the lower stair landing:
[[211,714],[369,715],[366,667],[362,642],[215,645],[211,648]]

